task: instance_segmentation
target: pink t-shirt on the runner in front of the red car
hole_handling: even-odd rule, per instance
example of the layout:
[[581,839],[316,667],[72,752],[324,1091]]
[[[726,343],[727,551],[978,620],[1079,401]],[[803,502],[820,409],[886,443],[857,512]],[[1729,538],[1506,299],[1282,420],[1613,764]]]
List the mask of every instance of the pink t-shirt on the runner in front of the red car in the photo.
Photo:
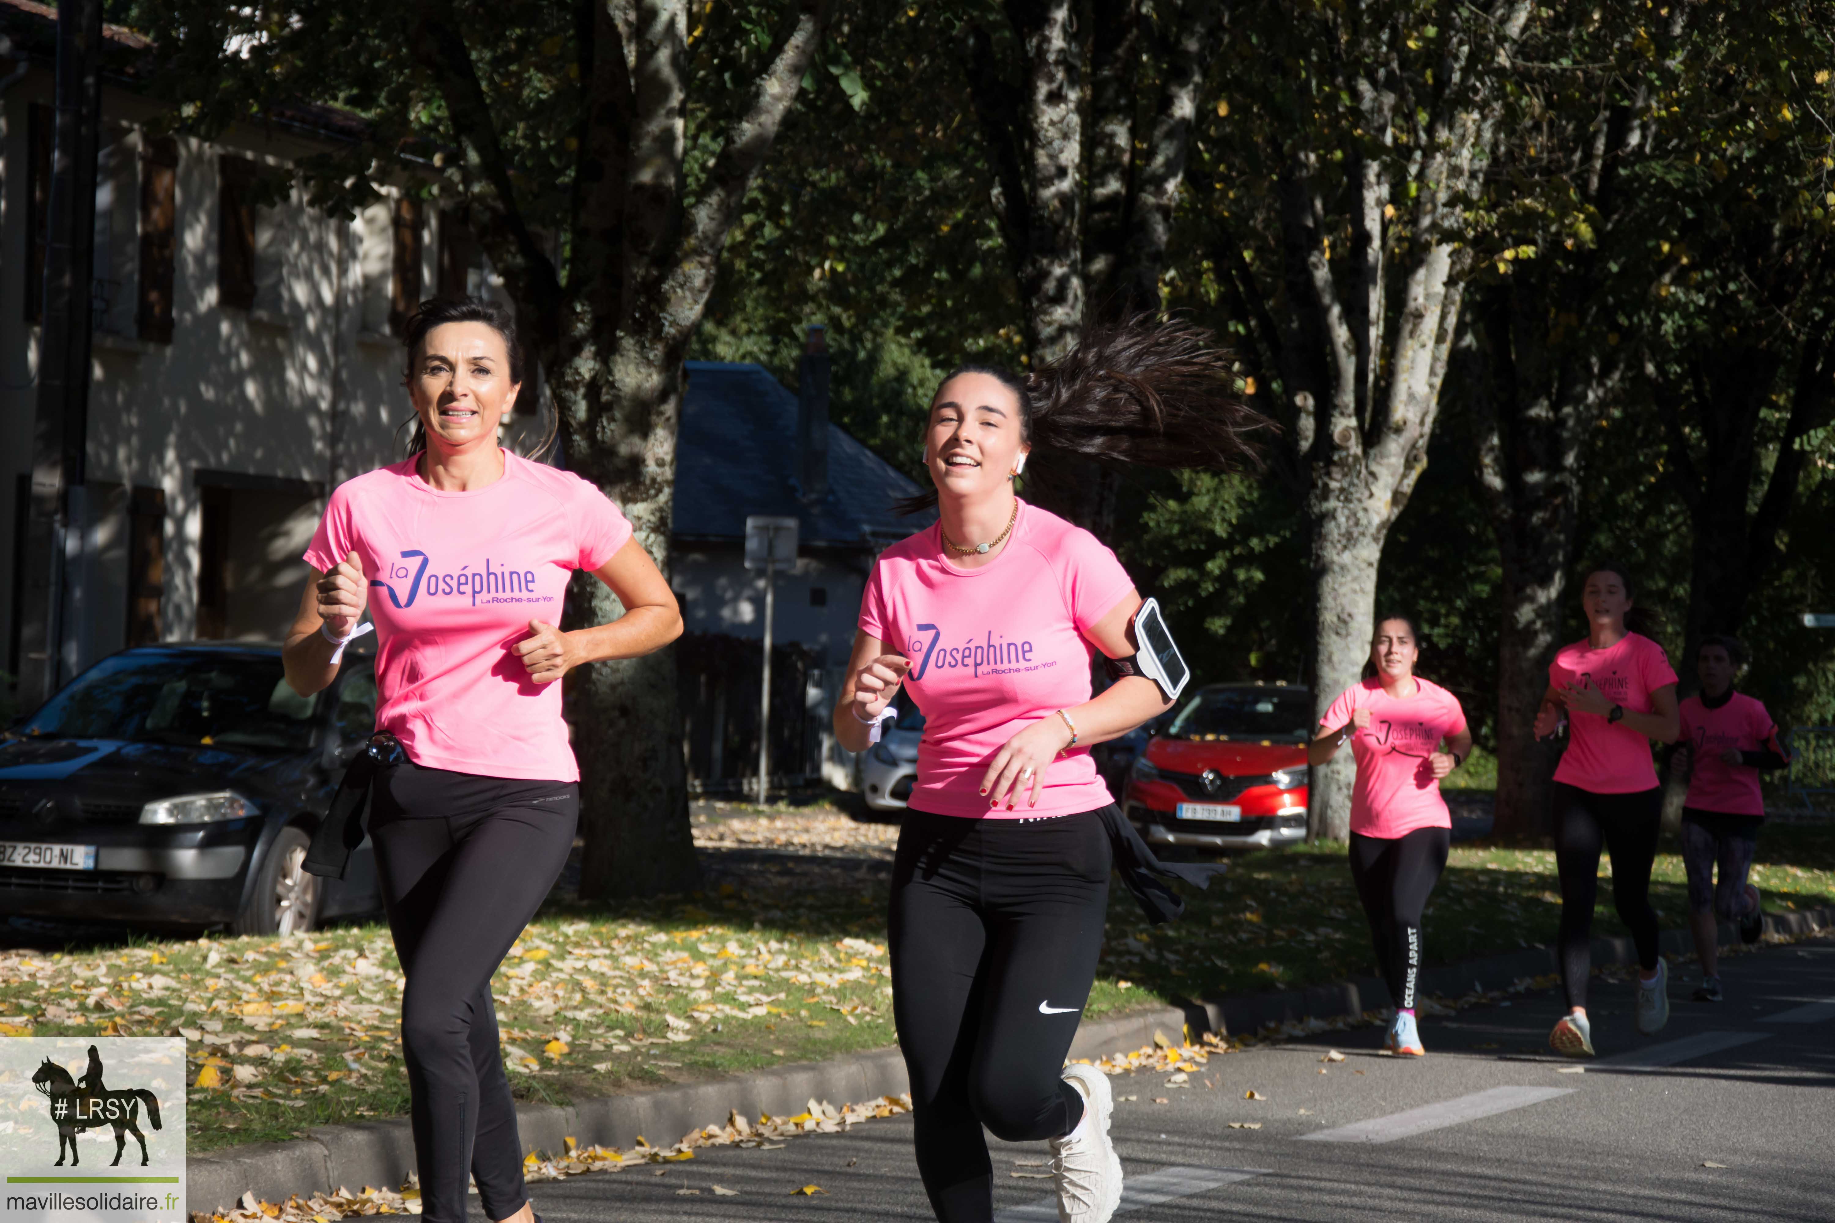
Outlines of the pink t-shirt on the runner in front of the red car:
[[1338,693],[1319,719],[1336,730],[1358,710],[1371,711],[1371,724],[1351,735],[1358,781],[1351,790],[1351,831],[1395,840],[1415,829],[1450,829],[1453,818],[1440,798],[1440,781],[1428,757],[1440,741],[1466,728],[1459,697],[1418,675],[1413,697],[1391,697],[1382,680],[1367,678]]

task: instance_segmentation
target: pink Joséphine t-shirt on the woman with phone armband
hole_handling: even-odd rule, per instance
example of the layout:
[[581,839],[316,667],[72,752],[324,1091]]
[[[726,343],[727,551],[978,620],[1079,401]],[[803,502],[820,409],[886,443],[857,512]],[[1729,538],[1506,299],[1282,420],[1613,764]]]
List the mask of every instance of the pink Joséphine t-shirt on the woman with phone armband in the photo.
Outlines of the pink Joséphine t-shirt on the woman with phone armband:
[[1134,579],[1095,535],[1020,502],[1006,548],[980,568],[943,559],[938,526],[879,554],[861,596],[861,631],[912,660],[905,686],[923,710],[910,805],[938,816],[1070,816],[1114,801],[1086,746],[1046,766],[1039,805],[991,810],[982,774],[1000,746],[1090,699],[1083,636]]

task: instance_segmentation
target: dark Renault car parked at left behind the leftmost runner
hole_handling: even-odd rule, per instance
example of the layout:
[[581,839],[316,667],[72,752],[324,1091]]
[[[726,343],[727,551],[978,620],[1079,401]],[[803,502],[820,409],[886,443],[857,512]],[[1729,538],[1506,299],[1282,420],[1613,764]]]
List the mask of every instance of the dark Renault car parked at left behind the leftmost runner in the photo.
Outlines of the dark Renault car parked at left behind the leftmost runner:
[[301,697],[281,647],[103,658],[0,741],[0,913],[294,933],[380,909],[371,843],[301,871],[376,722],[373,655]]

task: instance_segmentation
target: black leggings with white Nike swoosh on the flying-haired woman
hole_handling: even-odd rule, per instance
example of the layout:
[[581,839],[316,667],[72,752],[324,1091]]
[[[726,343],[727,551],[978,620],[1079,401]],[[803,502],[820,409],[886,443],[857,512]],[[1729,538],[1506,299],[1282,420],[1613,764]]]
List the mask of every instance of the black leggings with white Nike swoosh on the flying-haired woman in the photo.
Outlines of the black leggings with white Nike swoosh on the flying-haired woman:
[[892,865],[892,1014],[912,1084],[918,1172],[941,1223],[993,1219],[982,1126],[1007,1142],[1083,1118],[1061,1074],[1108,908],[1097,812],[905,814]]

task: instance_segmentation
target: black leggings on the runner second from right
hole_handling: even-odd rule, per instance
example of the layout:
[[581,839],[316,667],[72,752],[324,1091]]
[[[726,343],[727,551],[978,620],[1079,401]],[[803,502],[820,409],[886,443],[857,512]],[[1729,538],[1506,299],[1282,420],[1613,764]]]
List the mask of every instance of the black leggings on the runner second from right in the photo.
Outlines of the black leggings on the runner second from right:
[[1611,856],[1611,898],[1631,931],[1637,963],[1657,966],[1657,911],[1650,908],[1650,865],[1663,829],[1663,788],[1595,794],[1554,783],[1554,867],[1562,876],[1562,986],[1569,1007],[1587,1005],[1593,972],[1593,906],[1600,887],[1600,847]]

